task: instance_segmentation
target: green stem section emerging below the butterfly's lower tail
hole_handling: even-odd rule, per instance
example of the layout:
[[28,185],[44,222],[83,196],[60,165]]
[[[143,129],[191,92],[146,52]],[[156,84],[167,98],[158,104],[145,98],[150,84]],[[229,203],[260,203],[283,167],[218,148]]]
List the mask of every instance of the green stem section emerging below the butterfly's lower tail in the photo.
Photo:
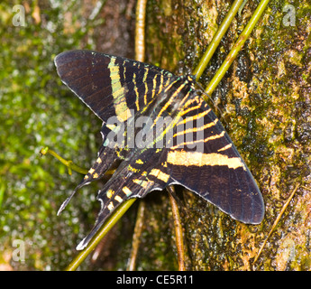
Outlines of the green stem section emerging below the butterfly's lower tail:
[[66,271],[75,271],[78,268],[78,266],[85,260],[88,254],[93,251],[100,240],[105,237],[105,234],[114,227],[114,224],[133,205],[135,200],[136,199],[126,200],[117,209],[114,210],[114,213],[110,216],[110,218],[105,221],[104,226],[100,229],[96,236],[91,239],[87,247],[74,258],[74,260],[66,268]]

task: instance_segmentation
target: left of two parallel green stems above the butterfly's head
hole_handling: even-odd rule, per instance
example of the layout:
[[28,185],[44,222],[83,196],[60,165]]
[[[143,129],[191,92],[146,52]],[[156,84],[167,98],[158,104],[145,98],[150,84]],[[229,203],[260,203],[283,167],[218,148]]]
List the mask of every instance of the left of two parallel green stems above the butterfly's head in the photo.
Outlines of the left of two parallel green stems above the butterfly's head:
[[200,62],[197,64],[196,69],[193,71],[193,74],[196,76],[196,79],[201,77],[203,71],[206,69],[208,62],[211,60],[216,48],[224,37],[224,33],[228,30],[230,24],[233,21],[233,17],[237,14],[240,6],[242,5],[243,0],[235,0],[231,6],[228,14],[224,17],[223,23],[219,26],[217,32],[215,33],[212,42],[209,43],[206,52],[201,58]]

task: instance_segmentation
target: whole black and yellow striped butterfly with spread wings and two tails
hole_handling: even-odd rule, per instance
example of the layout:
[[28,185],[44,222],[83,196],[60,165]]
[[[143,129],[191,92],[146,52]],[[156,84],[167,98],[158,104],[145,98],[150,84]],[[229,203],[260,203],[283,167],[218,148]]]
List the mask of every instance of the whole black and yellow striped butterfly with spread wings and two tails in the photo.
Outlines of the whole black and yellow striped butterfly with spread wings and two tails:
[[96,51],[63,52],[55,64],[62,81],[103,121],[104,143],[75,191],[121,161],[98,193],[95,227],[78,249],[124,200],[169,184],[196,192],[233,219],[261,222],[261,191],[193,76]]

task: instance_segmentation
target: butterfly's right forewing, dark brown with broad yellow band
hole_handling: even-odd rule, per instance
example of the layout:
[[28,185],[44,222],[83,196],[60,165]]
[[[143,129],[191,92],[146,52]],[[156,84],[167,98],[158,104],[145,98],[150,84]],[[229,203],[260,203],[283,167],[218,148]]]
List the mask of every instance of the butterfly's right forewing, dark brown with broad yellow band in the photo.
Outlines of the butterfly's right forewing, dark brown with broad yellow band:
[[[169,149],[173,182],[195,191],[234,219],[260,223],[264,212],[261,191],[224,126],[202,98],[192,98],[183,111],[181,122],[192,122],[192,127],[179,129],[185,141]],[[190,142],[188,134],[193,137]]]

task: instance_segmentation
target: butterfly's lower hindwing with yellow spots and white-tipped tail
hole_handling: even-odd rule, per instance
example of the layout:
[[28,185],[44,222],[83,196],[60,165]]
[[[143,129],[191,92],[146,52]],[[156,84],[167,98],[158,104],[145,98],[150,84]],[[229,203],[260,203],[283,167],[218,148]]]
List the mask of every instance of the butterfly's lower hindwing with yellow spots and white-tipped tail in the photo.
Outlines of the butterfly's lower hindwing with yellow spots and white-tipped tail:
[[[114,172],[114,175],[98,192],[97,200],[101,203],[96,224],[77,249],[83,249],[103,225],[105,219],[118,208],[123,201],[131,198],[142,198],[148,192],[162,190],[169,182],[169,174],[165,172],[166,154],[163,150],[153,148],[144,150],[141,154],[133,154],[123,161]],[[154,166],[150,165],[150,162]]]

